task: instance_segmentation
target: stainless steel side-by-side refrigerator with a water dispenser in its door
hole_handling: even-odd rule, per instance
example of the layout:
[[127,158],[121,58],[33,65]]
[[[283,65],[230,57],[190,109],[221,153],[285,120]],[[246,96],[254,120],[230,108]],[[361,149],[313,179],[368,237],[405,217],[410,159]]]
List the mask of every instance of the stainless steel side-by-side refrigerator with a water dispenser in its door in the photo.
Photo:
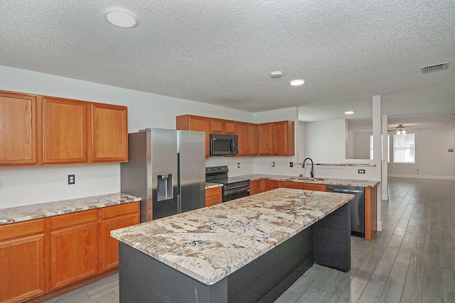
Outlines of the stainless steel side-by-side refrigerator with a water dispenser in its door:
[[205,134],[147,128],[128,134],[121,190],[141,197],[141,222],[205,206]]

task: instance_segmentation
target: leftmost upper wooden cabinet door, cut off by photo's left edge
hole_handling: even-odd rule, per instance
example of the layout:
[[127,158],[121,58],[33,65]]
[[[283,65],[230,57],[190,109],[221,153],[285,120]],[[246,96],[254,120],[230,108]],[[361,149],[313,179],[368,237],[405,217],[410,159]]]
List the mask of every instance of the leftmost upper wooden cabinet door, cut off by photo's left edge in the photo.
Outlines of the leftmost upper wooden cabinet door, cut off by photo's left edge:
[[0,92],[0,166],[36,165],[36,97]]

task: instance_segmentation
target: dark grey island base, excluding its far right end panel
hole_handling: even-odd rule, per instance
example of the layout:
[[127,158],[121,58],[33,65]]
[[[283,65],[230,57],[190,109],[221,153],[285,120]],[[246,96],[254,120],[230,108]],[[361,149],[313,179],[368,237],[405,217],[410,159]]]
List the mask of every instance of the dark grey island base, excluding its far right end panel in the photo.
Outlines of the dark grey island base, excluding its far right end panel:
[[120,302],[274,302],[313,264],[312,226],[213,285],[119,242]]

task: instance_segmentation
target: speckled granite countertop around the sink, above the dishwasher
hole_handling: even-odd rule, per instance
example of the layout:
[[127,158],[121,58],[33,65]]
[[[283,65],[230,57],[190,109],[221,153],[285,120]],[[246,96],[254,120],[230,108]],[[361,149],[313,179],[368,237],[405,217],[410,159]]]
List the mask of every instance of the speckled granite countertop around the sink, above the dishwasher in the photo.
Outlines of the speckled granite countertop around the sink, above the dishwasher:
[[306,182],[306,183],[318,183],[318,184],[338,184],[345,186],[360,186],[360,187],[375,187],[380,183],[380,181],[372,180],[350,180],[350,179],[336,179],[336,178],[311,178],[303,177],[303,179],[296,179],[294,176],[284,176],[284,175],[264,175],[264,174],[252,174],[252,175],[241,175],[236,176],[244,179],[250,179],[250,181],[267,179],[267,180],[277,180],[277,181],[289,181],[289,182]]

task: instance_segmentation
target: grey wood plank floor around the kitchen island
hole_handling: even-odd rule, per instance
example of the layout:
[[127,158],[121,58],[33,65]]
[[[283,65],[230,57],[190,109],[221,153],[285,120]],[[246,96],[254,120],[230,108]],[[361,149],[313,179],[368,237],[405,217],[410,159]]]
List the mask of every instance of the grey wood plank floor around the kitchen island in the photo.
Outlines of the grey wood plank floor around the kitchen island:
[[[275,303],[455,302],[455,181],[389,179],[382,232],[351,238],[352,268],[313,265]],[[46,303],[117,303],[118,275]]]

